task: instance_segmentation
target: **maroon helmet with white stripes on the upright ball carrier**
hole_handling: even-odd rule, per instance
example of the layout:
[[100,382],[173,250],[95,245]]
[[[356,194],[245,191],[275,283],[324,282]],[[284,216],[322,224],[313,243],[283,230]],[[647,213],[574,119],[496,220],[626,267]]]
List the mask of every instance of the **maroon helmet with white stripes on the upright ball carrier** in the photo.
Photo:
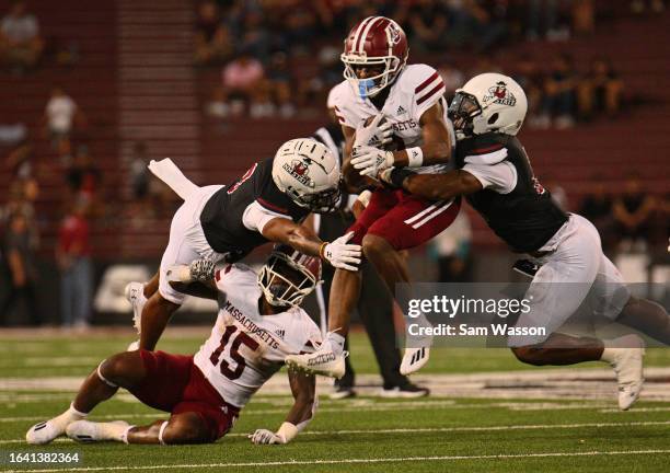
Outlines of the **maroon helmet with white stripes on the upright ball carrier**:
[[[353,82],[361,97],[377,95],[403,70],[407,62],[407,37],[397,23],[385,16],[368,16],[351,28],[339,57],[345,64],[344,77]],[[380,67],[383,72],[359,79],[356,68]]]

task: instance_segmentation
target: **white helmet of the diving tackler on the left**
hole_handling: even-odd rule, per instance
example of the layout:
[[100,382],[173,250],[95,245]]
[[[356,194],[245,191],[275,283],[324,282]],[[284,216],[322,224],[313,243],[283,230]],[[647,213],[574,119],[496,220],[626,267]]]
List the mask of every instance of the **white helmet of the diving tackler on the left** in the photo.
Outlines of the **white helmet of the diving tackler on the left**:
[[328,212],[339,200],[339,165],[333,152],[311,138],[296,138],[277,150],[273,181],[296,204]]

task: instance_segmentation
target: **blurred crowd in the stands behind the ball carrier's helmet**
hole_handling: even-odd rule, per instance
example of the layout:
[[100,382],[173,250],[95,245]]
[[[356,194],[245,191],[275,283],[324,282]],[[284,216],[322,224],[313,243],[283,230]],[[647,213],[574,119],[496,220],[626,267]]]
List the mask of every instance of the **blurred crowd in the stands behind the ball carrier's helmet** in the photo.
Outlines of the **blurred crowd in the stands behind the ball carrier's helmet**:
[[[631,4],[636,12],[662,7]],[[473,73],[473,65],[459,65],[462,55],[495,57],[513,43],[589,35],[596,12],[594,0],[203,0],[196,10],[194,64],[220,70],[206,105],[209,115],[291,117],[309,113],[342,81],[343,39],[368,15],[397,21],[409,38],[411,60],[449,65],[443,69],[455,89]],[[611,12],[599,2],[598,13]],[[567,128],[620,109],[623,83],[608,57],[580,67],[568,56],[520,61],[518,70],[486,66],[516,72],[530,89],[531,126]]]

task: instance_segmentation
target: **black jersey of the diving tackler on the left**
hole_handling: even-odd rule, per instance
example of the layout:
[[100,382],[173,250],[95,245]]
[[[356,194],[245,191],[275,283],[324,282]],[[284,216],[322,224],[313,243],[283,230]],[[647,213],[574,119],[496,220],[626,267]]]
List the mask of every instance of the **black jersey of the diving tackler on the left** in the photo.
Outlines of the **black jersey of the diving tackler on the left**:
[[242,218],[254,201],[270,212],[302,221],[309,209],[298,206],[273,181],[273,158],[255,163],[246,173],[213,194],[200,214],[205,238],[217,253],[234,262],[267,242],[259,232],[244,227]]

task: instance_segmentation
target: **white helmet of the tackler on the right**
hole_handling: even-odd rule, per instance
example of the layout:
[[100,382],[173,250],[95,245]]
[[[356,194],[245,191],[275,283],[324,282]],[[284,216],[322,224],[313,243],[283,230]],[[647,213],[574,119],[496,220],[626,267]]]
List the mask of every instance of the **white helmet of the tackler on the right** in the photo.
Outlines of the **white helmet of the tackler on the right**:
[[489,131],[513,136],[521,129],[527,111],[528,99],[517,81],[487,72],[457,90],[449,118],[459,139]]

